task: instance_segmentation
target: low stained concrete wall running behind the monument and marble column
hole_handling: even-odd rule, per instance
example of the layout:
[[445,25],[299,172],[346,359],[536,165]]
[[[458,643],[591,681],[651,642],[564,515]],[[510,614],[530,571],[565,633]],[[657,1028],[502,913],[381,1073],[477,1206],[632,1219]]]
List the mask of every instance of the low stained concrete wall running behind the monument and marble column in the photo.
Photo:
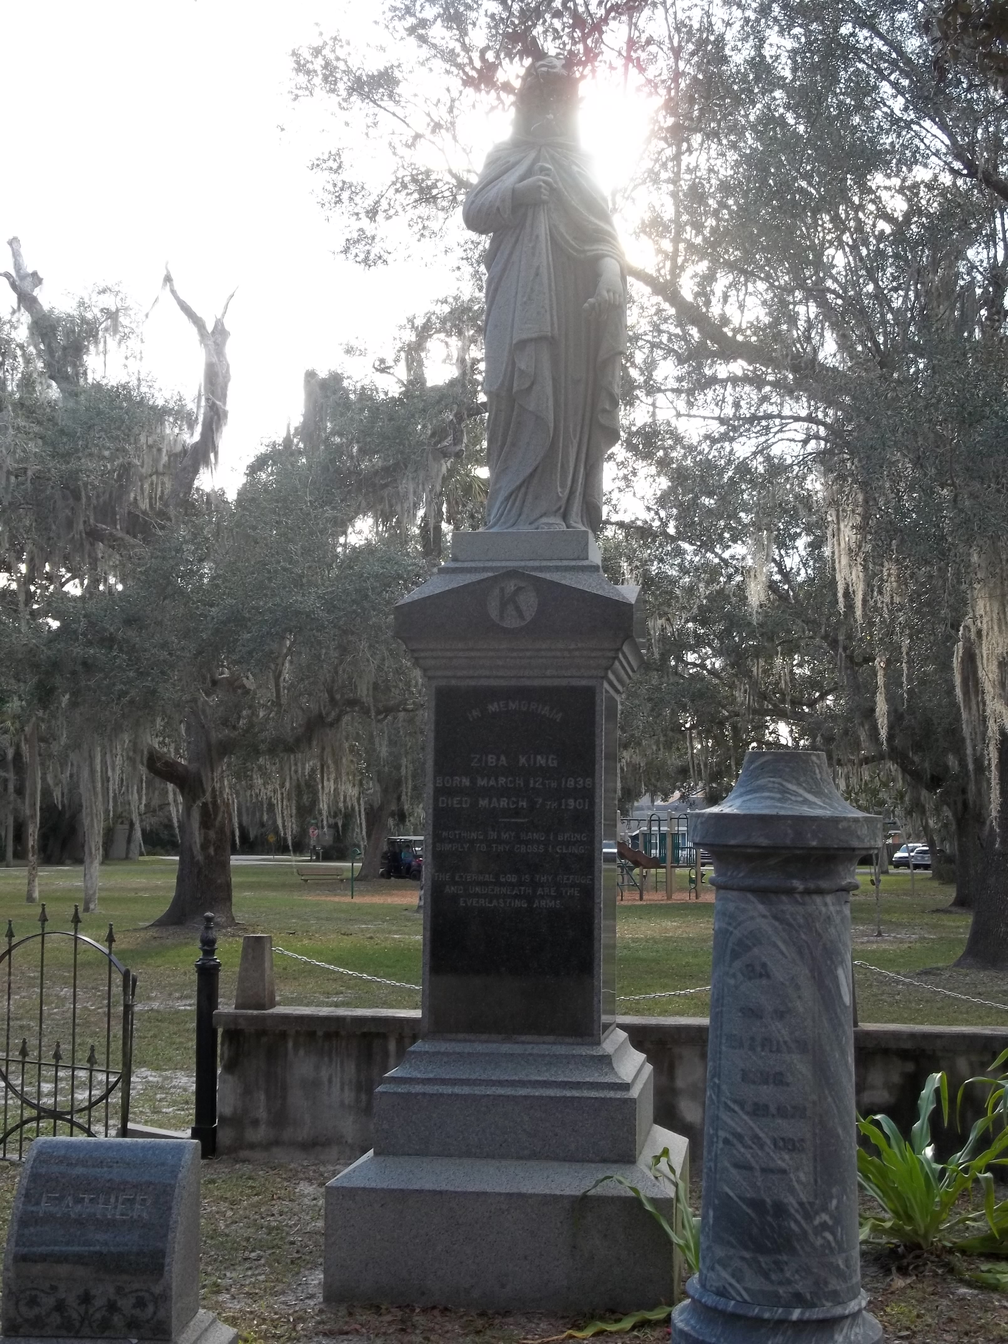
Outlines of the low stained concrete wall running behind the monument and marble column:
[[[419,1013],[333,1008],[222,1009],[218,1152],[313,1152],[351,1161],[371,1146],[371,1098],[419,1039]],[[655,1120],[685,1134],[698,1163],[707,1082],[706,1017],[621,1017],[655,1067]],[[996,1027],[866,1025],[855,1031],[857,1109],[884,1111],[906,1132],[929,1074],[945,1068],[950,1095],[1008,1046]],[[974,1090],[976,1098],[980,1089]],[[968,1124],[978,1114],[964,1106]],[[953,1118],[953,1117],[950,1117]],[[958,1146],[935,1129],[939,1150]]]

